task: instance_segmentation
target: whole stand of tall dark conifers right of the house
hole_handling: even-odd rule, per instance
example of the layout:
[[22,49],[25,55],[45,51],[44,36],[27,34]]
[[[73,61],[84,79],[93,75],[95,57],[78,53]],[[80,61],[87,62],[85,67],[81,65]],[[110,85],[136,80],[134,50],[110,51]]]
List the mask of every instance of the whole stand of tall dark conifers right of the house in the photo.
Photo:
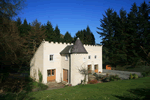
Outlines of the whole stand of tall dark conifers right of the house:
[[[150,4],[150,2],[149,2]],[[103,63],[112,65],[150,65],[150,5],[144,1],[139,7],[134,3],[127,12],[119,15],[108,9],[100,20]]]

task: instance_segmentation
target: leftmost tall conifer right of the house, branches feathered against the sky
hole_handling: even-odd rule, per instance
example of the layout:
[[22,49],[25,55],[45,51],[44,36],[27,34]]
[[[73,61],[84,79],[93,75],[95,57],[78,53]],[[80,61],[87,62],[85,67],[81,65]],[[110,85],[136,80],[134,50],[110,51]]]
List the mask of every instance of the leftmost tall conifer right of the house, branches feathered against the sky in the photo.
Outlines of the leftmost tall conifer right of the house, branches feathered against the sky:
[[105,12],[106,16],[103,15],[103,19],[100,20],[101,22],[101,27],[102,28],[98,28],[99,30],[102,30],[102,32],[98,32],[98,34],[100,34],[100,37],[102,37],[102,45],[104,47],[106,47],[108,49],[108,54],[109,55],[109,61],[111,63],[117,63],[118,59],[116,58],[116,48],[114,47],[113,43],[114,43],[114,26],[112,25],[113,23],[113,9],[107,9],[107,11]]

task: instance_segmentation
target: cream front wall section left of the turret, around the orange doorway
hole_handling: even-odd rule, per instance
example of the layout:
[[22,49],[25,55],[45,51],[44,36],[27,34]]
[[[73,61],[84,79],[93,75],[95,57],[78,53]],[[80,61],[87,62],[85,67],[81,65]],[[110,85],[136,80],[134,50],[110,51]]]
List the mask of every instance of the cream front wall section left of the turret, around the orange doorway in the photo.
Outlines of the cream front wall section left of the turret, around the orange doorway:
[[[62,63],[61,63],[61,55],[60,52],[70,44],[62,44],[62,43],[44,43],[44,69],[43,69],[43,81],[47,83],[47,70],[48,69],[56,69],[56,82],[61,82],[62,78]],[[49,60],[50,54],[53,54],[53,61]]]

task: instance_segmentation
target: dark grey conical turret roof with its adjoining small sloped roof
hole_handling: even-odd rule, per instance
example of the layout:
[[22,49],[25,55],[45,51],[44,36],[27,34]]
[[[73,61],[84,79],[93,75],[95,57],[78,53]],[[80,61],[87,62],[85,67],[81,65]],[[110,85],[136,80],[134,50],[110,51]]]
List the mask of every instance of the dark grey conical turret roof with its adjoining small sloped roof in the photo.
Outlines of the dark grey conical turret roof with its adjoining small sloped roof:
[[88,52],[84,48],[82,42],[78,38],[74,45],[69,45],[65,47],[60,54],[69,54],[69,53],[81,53],[81,54],[87,54]]

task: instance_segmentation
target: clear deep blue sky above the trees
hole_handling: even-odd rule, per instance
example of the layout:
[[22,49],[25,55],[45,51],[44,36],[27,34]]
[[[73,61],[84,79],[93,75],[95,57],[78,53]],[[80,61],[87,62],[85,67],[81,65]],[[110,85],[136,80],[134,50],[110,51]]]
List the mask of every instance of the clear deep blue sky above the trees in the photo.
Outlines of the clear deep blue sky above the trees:
[[[145,0],[147,4],[149,1]],[[105,11],[112,8],[119,15],[119,10],[123,8],[129,13],[134,2],[140,6],[144,0],[26,0],[26,6],[17,17],[22,22],[27,19],[28,23],[35,19],[41,24],[50,21],[53,28],[58,25],[61,34],[68,31],[72,37],[88,25],[95,42],[100,43],[102,38],[96,32],[100,31],[96,27],[100,27],[100,19],[103,19]]]

